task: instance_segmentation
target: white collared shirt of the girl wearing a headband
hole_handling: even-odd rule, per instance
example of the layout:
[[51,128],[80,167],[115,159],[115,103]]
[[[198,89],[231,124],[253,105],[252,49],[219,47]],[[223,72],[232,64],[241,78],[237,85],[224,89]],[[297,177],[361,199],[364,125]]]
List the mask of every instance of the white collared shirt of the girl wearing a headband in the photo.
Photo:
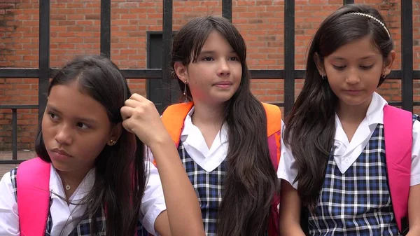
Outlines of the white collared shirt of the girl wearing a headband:
[[[370,102],[367,109],[366,116],[358,126],[351,141],[347,139],[341,122],[337,115],[335,115],[335,137],[334,137],[334,160],[340,172],[344,174],[358,156],[363,152],[370,137],[378,124],[384,124],[384,106],[387,104],[386,100],[379,94],[374,92],[372,95],[372,102]],[[283,123],[281,124],[283,130]],[[413,144],[412,144],[412,171],[410,186],[420,183],[420,122],[413,123]],[[283,136],[282,136],[283,137]],[[279,162],[279,170],[277,171],[279,178],[288,181],[297,189],[297,182],[293,183],[297,176],[297,164],[290,148],[283,144],[281,139],[281,158]]]

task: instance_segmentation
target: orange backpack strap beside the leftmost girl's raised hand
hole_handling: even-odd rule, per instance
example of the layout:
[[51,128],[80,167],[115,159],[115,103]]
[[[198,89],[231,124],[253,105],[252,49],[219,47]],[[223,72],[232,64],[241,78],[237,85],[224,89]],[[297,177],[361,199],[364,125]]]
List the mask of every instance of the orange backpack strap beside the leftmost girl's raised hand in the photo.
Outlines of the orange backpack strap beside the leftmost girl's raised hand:
[[162,113],[163,125],[165,125],[176,147],[179,145],[184,120],[188,112],[193,108],[193,105],[193,102],[174,104],[168,106]]

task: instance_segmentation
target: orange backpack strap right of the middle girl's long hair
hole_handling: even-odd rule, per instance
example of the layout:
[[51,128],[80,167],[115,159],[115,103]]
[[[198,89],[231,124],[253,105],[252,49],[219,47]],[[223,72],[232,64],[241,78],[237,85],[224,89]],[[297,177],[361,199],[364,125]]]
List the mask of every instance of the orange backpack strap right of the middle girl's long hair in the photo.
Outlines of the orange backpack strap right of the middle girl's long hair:
[[[277,171],[280,160],[281,111],[279,106],[262,103],[267,116],[267,138],[269,155],[274,169]],[[268,235],[279,235],[279,203],[280,195],[274,195],[268,223]]]

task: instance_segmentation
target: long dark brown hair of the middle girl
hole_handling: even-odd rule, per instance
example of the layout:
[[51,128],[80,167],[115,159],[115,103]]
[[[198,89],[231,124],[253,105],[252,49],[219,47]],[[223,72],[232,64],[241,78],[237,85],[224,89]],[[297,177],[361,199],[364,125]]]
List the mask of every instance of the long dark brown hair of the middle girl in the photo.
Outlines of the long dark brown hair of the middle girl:
[[[269,157],[265,110],[250,90],[244,39],[225,18],[194,18],[174,36],[171,65],[174,69],[175,62],[183,65],[197,62],[207,36],[213,31],[230,43],[242,66],[239,88],[225,104],[224,116],[229,129],[228,168],[218,210],[218,235],[264,235],[278,179]],[[175,73],[172,75],[177,78]],[[179,85],[183,90],[184,83],[179,80]],[[188,87],[187,97],[193,100]]]

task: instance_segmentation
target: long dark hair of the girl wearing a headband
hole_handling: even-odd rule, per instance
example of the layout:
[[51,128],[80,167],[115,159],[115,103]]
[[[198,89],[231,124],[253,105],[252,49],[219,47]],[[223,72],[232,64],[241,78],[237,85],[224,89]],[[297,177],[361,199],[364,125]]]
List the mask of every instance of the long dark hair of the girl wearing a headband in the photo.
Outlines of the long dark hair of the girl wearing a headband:
[[[363,4],[342,6],[322,22],[311,41],[302,92],[288,115],[283,134],[284,142],[290,146],[297,162],[297,192],[304,206],[311,211],[318,202],[334,141],[338,102],[328,80],[323,80],[318,72],[315,53],[323,63],[323,58],[339,47],[365,36],[371,37],[384,59],[393,50],[393,41],[384,26],[365,15],[349,13],[365,13],[384,22],[376,9]],[[381,78],[378,86],[384,80]]]

